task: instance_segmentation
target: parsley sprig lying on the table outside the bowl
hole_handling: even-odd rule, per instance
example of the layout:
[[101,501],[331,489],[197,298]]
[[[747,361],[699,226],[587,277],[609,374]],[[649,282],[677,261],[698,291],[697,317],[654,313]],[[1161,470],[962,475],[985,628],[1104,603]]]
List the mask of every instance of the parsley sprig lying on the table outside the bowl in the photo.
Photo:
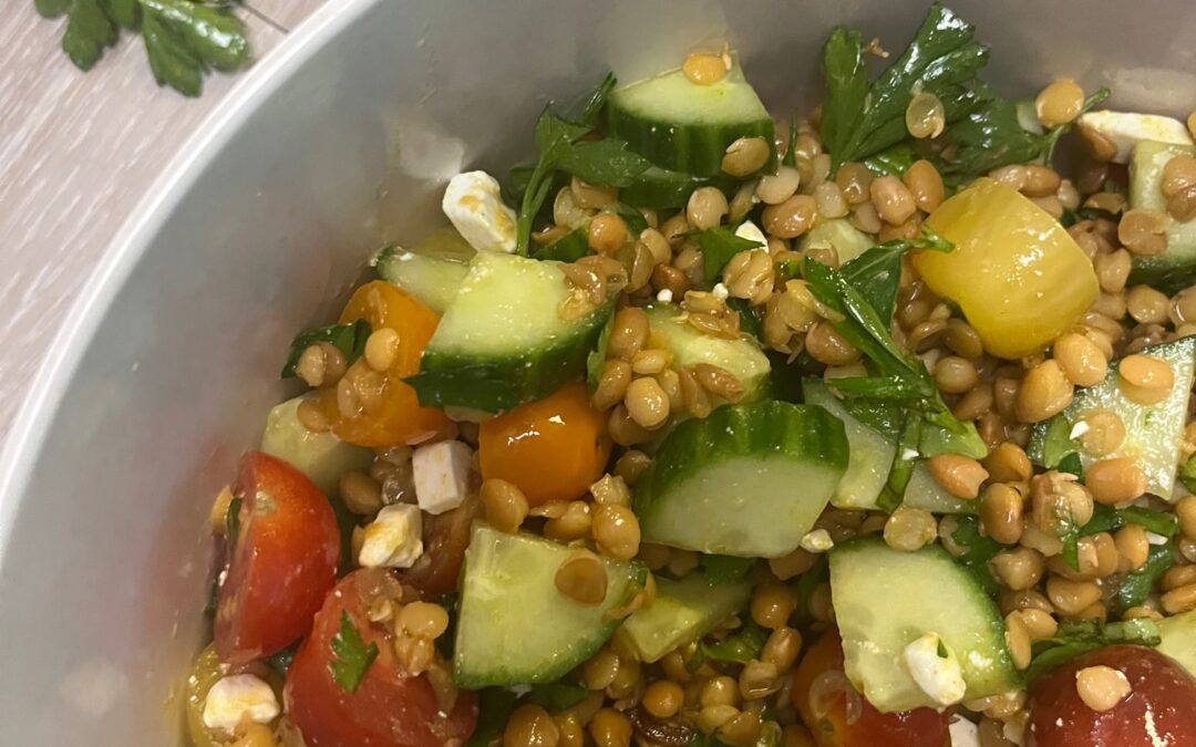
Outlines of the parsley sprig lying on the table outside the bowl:
[[154,80],[184,96],[199,96],[209,71],[236,71],[250,60],[231,0],[35,0],[35,7],[45,18],[67,17],[62,50],[83,71],[121,30],[140,31]]

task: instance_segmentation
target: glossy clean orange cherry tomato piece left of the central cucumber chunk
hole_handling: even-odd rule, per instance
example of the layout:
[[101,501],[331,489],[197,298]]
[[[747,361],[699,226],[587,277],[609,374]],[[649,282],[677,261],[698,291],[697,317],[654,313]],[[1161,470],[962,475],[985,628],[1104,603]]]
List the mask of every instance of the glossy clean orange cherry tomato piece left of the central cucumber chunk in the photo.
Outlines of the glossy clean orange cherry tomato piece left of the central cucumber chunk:
[[578,381],[482,423],[482,478],[517,485],[530,506],[572,501],[602,477],[610,459],[606,417]]

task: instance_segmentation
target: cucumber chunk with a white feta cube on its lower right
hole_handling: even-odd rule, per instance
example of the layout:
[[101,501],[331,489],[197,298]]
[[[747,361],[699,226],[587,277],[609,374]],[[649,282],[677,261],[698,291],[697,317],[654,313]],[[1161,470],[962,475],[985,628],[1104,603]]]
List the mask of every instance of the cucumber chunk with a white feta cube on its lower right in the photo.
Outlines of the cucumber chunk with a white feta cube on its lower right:
[[878,711],[942,708],[905,663],[905,647],[927,633],[958,657],[966,699],[1020,684],[1000,610],[938,545],[903,552],[877,537],[837,545],[830,552],[830,590],[844,672]]

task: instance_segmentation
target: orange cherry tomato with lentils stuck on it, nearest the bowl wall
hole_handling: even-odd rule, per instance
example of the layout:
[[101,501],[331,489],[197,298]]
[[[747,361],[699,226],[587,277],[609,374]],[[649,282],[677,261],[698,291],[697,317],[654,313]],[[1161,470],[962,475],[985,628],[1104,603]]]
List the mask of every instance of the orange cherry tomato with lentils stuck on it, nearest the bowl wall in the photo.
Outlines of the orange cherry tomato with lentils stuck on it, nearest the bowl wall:
[[[376,280],[358,288],[341,312],[341,324],[358,319],[370,322],[373,331],[398,332],[398,347],[389,371],[376,372],[359,359],[337,386],[321,390],[319,406],[332,423],[332,433],[349,443],[385,448],[421,441],[445,428],[445,414],[421,408],[415,390],[403,381],[420,371],[420,356],[440,322],[435,312],[395,286]],[[372,394],[360,398],[360,412],[346,415],[337,388],[358,380]]]

